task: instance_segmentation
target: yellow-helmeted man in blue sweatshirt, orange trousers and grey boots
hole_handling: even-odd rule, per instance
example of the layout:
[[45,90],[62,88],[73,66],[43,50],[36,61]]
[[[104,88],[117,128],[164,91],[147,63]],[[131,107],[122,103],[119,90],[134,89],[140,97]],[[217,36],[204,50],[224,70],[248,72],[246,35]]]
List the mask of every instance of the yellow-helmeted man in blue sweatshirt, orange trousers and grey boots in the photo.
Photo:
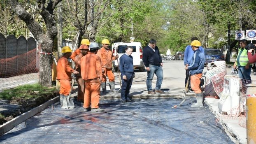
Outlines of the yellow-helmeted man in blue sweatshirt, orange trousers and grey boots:
[[192,41],[190,45],[194,54],[190,63],[191,65],[186,66],[185,70],[190,70],[191,88],[196,96],[196,103],[191,105],[191,107],[202,107],[203,95],[200,89],[200,79],[202,78],[202,71],[204,69],[205,55],[199,49],[201,43],[198,40]]

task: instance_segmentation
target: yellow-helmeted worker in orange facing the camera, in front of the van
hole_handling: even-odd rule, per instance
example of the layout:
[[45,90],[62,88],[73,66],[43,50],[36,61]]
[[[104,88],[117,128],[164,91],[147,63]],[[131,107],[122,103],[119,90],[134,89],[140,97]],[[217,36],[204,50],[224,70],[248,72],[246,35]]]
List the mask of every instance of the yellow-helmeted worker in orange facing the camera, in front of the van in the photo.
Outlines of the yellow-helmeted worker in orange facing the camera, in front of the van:
[[115,90],[115,77],[112,72],[112,60],[116,60],[118,58],[118,55],[112,56],[112,51],[109,49],[108,39],[103,39],[101,43],[103,46],[100,50],[98,50],[97,55],[100,57],[103,66],[103,77],[101,83],[102,93],[107,93],[107,77],[109,79],[110,92],[117,93],[118,91]]

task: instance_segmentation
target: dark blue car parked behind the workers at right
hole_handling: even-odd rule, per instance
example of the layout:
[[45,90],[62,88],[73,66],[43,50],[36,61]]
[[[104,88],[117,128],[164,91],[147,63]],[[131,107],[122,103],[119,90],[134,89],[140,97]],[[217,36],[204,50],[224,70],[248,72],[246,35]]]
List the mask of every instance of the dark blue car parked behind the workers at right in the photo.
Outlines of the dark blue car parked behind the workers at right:
[[205,49],[205,65],[218,60],[225,60],[219,49]]

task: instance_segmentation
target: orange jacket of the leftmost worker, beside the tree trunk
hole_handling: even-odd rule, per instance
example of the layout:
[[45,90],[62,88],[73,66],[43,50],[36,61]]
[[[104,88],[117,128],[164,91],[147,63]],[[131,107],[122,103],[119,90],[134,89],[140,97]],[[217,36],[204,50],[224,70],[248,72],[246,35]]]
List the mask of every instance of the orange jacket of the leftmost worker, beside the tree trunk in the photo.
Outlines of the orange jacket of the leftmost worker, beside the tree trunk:
[[62,56],[57,63],[57,77],[56,79],[65,79],[71,81],[71,73],[74,69],[68,65],[67,57]]

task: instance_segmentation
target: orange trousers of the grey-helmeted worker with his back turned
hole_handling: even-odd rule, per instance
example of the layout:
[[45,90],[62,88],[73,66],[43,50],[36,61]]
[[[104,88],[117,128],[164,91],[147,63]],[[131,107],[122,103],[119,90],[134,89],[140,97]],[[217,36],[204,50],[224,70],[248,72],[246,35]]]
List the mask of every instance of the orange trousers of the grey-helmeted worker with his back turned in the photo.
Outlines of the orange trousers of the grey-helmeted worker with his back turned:
[[84,88],[84,108],[99,108],[99,98],[100,98],[100,80],[99,79],[89,79],[85,80]]

